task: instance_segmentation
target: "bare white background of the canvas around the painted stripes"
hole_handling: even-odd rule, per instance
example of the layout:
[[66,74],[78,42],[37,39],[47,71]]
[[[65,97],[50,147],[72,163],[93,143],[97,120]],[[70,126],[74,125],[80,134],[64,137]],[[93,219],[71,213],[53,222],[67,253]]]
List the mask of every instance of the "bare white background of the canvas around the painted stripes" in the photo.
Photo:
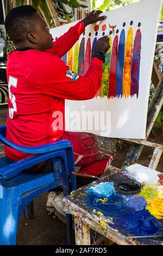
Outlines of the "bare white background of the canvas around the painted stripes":
[[[105,35],[109,35],[109,32],[112,31],[112,28],[109,27],[109,24],[111,26],[116,25],[114,32],[110,35],[112,42],[114,41],[116,35],[118,35],[119,42],[122,29],[124,29],[125,40],[127,40],[128,30],[130,27],[132,27],[134,47],[136,31],[137,29],[140,29],[141,31],[139,95],[138,97],[135,94],[126,97],[116,96],[110,98],[107,96],[97,96],[91,100],[86,101],[66,100],[66,130],[92,132],[105,137],[145,139],[149,87],[151,83],[161,3],[161,0],[143,0],[105,13],[107,19],[99,23],[97,39],[103,36],[103,25],[106,25],[106,30],[104,31]],[[124,22],[126,23],[126,26],[124,26]],[[51,29],[53,38],[56,36],[59,37],[65,33],[68,28],[74,26],[76,23],[77,22],[73,22],[68,25]],[[90,32],[90,39],[92,44],[92,41],[95,38],[94,27],[95,25],[89,25],[86,27],[85,35],[81,35],[79,38],[79,45],[84,36],[86,47],[86,41],[87,38],[89,38]],[[89,125],[85,127],[85,123],[82,123],[83,111],[86,111],[87,113],[90,113],[89,111],[96,111],[95,114],[99,114],[99,129],[97,127],[98,125],[95,123],[92,123],[93,126],[91,129],[89,129]],[[104,121],[100,119],[101,113],[103,111],[105,113],[105,117],[108,114],[108,124],[106,124],[106,118],[105,124]],[[77,113],[80,113],[80,116]],[[90,118],[91,116],[89,119]],[[85,122],[85,120],[83,120],[83,122]],[[96,120],[96,122],[98,122],[98,120]],[[107,126],[107,129],[104,129],[104,125]]]

